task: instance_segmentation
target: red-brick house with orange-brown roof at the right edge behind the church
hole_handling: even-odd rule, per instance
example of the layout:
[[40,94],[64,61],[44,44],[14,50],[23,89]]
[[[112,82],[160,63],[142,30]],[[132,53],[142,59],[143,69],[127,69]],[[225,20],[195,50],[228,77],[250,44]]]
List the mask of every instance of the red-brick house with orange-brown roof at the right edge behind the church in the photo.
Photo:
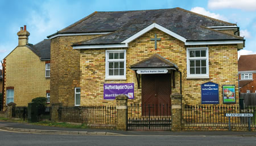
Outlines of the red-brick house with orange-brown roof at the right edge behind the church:
[[241,93],[256,93],[256,54],[240,56],[238,78]]

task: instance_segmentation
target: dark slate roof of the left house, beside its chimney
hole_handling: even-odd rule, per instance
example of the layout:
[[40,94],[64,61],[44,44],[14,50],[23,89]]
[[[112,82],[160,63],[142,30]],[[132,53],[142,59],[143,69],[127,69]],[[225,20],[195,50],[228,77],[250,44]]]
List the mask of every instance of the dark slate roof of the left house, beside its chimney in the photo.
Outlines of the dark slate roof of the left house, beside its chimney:
[[32,45],[28,44],[28,47],[35,52],[40,59],[50,59],[51,58],[51,40],[44,39],[38,42],[38,44]]

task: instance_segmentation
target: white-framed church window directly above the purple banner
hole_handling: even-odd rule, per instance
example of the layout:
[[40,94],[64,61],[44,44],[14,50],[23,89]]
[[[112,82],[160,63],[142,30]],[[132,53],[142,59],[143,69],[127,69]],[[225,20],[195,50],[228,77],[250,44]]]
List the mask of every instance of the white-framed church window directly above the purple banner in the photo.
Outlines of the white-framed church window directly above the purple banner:
[[126,79],[126,50],[106,50],[105,79]]

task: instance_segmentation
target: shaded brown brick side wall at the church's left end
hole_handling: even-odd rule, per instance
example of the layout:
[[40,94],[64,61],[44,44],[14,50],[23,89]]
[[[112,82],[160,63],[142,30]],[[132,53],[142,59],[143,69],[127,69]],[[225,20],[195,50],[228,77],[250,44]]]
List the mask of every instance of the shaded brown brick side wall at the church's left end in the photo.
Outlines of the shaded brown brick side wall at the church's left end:
[[51,39],[51,103],[75,105],[75,87],[80,87],[80,51],[71,45],[98,35],[59,36]]

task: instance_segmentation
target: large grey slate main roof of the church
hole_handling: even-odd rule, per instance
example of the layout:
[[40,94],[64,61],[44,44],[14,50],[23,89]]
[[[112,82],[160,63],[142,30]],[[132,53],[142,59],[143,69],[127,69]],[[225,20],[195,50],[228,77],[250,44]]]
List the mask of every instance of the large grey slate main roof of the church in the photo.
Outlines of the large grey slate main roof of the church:
[[186,38],[187,41],[243,40],[242,37],[206,28],[210,26],[235,26],[236,24],[209,18],[182,8],[94,12],[53,35],[61,33],[113,32],[89,41],[78,42],[74,45],[117,44],[152,23],[157,23],[169,29],[177,35]]

